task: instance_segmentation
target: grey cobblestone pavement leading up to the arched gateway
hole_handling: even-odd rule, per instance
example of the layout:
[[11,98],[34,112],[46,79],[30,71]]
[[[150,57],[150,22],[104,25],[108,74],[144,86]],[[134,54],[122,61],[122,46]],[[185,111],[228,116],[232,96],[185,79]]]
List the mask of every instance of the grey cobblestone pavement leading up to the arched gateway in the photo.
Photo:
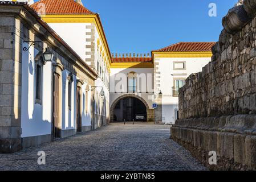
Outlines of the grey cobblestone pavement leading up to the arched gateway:
[[[169,136],[170,126],[112,123],[14,154],[0,154],[0,170],[206,169]],[[46,165],[38,165],[38,151],[46,152]]]

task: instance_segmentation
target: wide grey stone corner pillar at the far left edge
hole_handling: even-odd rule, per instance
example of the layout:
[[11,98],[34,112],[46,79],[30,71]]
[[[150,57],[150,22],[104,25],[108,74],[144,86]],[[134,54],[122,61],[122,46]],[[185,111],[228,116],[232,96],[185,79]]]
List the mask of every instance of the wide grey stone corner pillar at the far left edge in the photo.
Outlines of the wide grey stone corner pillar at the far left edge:
[[22,24],[0,17],[0,153],[21,150]]

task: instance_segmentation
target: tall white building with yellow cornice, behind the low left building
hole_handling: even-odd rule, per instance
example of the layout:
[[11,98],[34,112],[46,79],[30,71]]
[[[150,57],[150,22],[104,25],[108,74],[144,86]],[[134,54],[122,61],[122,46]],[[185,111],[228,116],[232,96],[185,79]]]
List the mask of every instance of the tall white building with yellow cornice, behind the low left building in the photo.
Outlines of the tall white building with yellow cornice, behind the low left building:
[[[94,128],[109,122],[109,77],[111,53],[99,14],[81,1],[41,0],[31,5],[43,20],[98,74],[94,92]],[[101,90],[104,97],[101,97]]]

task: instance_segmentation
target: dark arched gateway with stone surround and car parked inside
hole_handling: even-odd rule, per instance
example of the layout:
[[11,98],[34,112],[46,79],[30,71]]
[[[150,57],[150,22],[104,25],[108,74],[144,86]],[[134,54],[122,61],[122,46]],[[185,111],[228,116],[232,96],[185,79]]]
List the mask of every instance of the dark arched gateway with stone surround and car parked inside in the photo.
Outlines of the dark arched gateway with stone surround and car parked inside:
[[[125,106],[125,108],[123,108],[123,106]],[[116,111],[115,113],[115,110],[118,109],[120,109],[120,111]],[[117,113],[121,116],[117,116]],[[136,120],[136,117],[138,118],[143,115],[144,119],[141,119],[141,121],[153,121],[152,109],[149,108],[147,102],[143,98],[136,94],[124,94],[123,96],[118,97],[113,102],[110,109],[111,122],[123,121],[123,119],[125,119],[125,121],[132,121],[133,119]]]

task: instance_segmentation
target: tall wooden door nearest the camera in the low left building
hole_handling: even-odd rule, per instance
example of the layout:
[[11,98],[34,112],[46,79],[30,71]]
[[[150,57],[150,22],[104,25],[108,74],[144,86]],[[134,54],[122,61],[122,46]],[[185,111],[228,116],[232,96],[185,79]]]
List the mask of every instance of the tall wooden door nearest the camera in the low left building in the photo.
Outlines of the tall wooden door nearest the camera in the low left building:
[[59,129],[59,75],[54,73],[53,76],[53,138],[60,138]]

